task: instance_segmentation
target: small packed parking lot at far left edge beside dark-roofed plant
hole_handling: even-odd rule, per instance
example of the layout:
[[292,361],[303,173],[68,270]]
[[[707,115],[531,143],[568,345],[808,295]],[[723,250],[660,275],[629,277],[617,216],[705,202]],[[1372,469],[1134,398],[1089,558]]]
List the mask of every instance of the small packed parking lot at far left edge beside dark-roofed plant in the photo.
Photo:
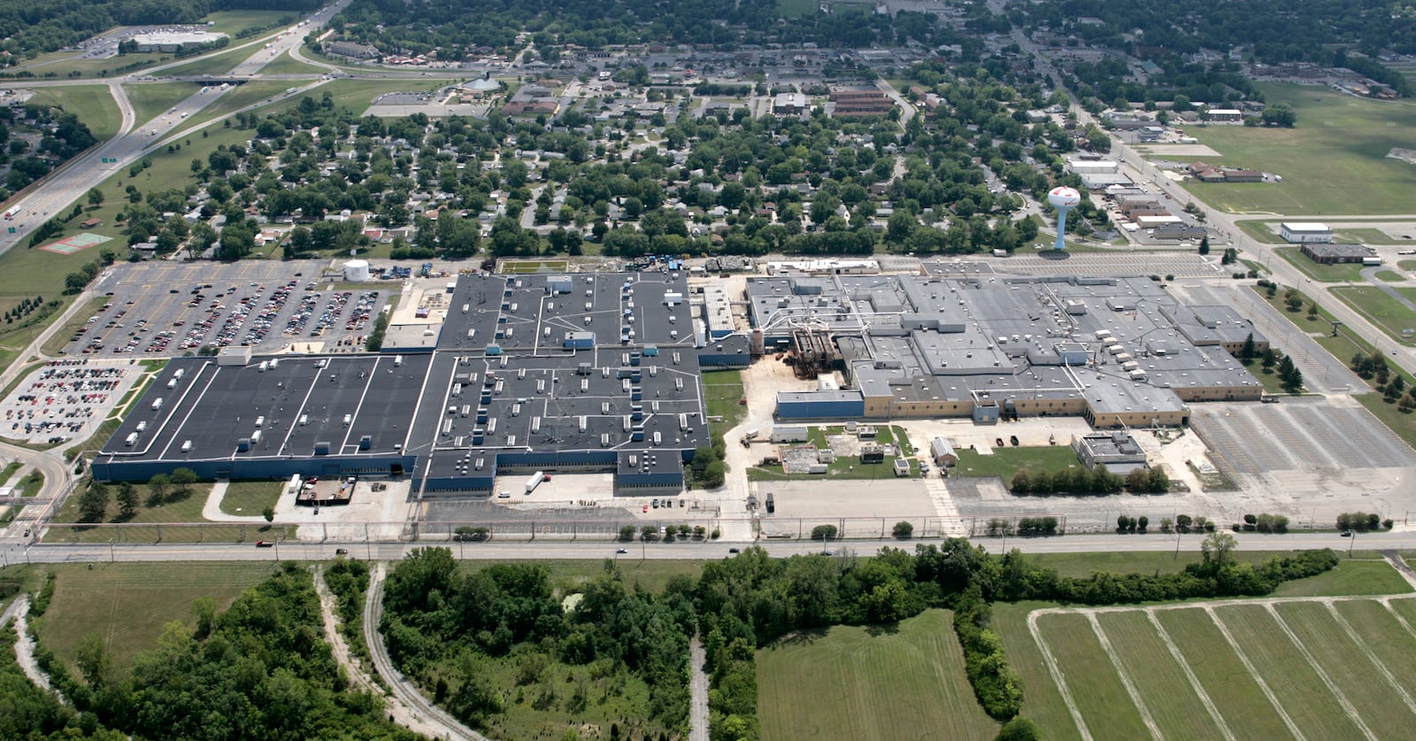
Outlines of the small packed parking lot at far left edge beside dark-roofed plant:
[[0,401],[0,436],[33,445],[88,439],[142,374],[129,361],[50,361]]

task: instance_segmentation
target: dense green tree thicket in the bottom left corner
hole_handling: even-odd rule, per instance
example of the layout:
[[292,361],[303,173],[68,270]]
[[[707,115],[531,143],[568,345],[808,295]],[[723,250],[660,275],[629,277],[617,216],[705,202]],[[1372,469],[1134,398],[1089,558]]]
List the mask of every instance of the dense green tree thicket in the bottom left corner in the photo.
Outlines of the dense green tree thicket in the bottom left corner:
[[52,652],[37,660],[81,713],[139,738],[413,740],[377,697],[347,687],[321,639],[309,571],[286,562],[231,608],[193,605],[195,625],[169,623],[129,669],[96,636],[78,649],[78,676]]

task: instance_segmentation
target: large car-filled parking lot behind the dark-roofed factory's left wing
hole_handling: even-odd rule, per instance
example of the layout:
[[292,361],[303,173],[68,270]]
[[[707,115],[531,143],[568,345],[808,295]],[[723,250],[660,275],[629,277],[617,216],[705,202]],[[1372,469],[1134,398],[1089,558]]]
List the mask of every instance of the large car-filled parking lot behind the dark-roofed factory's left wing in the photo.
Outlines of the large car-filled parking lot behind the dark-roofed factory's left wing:
[[71,357],[173,357],[228,346],[275,353],[358,350],[388,289],[336,288],[323,262],[119,265],[108,303],[64,349]]

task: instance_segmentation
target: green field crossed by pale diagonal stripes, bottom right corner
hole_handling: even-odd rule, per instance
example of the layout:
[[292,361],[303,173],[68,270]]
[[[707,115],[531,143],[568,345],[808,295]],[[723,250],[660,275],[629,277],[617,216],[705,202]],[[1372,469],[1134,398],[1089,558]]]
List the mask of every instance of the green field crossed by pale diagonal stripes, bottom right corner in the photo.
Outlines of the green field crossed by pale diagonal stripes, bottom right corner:
[[1416,723],[1412,596],[1042,608],[1031,642],[1008,612],[1024,714],[1052,738],[1403,738]]

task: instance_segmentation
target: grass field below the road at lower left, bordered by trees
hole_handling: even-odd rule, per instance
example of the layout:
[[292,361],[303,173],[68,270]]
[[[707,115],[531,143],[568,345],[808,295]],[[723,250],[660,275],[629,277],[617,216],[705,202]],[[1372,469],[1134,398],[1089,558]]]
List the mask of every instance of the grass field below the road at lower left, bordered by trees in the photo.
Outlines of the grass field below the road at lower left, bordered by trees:
[[270,575],[269,562],[79,564],[51,567],[57,574],[50,609],[35,622],[40,643],[74,666],[84,636],[103,639],[109,659],[123,666],[140,650],[157,647],[171,621],[194,623],[191,602],[210,596],[225,609],[241,591]]

